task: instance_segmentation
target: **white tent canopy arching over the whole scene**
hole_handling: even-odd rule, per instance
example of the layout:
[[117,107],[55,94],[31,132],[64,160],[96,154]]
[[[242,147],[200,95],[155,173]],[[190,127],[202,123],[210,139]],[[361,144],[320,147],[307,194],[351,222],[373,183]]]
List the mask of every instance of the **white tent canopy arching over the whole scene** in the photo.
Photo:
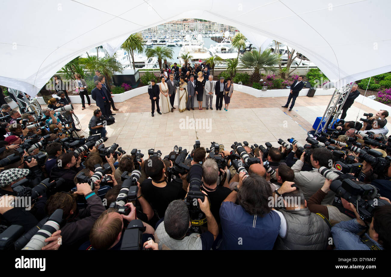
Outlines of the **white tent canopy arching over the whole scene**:
[[390,10],[387,0],[4,0],[0,84],[35,96],[85,51],[113,53],[130,34],[181,18],[235,26],[256,47],[287,43],[331,80],[352,82],[391,71]]

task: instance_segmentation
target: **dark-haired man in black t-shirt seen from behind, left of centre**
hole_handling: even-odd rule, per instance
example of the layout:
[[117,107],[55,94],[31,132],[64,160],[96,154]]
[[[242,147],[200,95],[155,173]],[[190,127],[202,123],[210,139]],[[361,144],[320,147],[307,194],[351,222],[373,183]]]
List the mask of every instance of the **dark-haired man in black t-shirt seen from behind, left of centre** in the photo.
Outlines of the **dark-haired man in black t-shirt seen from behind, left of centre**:
[[165,181],[166,168],[160,158],[152,157],[146,160],[144,170],[152,179],[145,179],[141,183],[142,195],[151,204],[158,218],[164,217],[168,205],[174,200],[185,198],[186,191],[181,183]]

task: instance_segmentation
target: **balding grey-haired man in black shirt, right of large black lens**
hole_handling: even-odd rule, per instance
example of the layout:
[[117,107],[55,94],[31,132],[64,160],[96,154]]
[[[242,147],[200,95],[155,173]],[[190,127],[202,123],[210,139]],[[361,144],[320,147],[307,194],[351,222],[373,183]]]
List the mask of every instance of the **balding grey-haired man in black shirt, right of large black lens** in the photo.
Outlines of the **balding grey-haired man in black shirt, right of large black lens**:
[[201,190],[206,192],[210,201],[210,211],[216,219],[217,224],[220,223],[220,206],[222,201],[231,193],[231,190],[225,186],[217,186],[219,178],[219,167],[213,159],[206,159],[202,165],[204,183]]

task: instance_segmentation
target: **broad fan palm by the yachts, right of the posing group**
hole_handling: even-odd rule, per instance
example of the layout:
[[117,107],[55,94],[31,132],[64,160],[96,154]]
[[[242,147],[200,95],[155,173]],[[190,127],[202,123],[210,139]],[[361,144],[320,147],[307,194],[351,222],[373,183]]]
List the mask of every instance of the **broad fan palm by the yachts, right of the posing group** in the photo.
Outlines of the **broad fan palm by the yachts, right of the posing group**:
[[258,82],[261,78],[262,69],[266,73],[279,73],[279,69],[274,66],[280,64],[280,61],[280,55],[274,54],[270,49],[266,49],[262,53],[253,50],[240,56],[240,68],[252,68],[254,72],[251,75],[250,82]]

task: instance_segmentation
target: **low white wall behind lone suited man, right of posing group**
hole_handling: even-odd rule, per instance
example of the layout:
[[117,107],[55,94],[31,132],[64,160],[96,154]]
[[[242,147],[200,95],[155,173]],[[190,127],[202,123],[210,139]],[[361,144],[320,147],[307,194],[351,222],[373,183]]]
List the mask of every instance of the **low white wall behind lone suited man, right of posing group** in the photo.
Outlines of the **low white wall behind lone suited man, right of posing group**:
[[[244,92],[255,97],[286,97],[289,95],[290,89],[268,89],[262,91],[260,89],[254,89],[245,85],[233,84],[235,91]],[[302,89],[299,92],[299,96],[306,96],[309,89]],[[315,95],[332,95],[335,89],[317,89]]]

